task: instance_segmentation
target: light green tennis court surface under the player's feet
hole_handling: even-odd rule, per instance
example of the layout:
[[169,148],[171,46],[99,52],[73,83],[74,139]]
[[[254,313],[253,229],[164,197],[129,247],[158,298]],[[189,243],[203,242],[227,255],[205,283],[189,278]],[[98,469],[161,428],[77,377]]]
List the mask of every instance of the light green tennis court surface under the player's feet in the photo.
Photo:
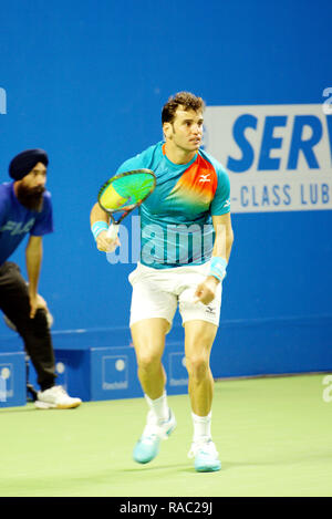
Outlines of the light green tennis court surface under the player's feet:
[[177,429],[145,466],[132,460],[143,398],[1,409],[0,496],[332,496],[324,376],[217,382],[212,435],[222,469],[214,474],[195,473],[187,458],[187,395],[169,397]]

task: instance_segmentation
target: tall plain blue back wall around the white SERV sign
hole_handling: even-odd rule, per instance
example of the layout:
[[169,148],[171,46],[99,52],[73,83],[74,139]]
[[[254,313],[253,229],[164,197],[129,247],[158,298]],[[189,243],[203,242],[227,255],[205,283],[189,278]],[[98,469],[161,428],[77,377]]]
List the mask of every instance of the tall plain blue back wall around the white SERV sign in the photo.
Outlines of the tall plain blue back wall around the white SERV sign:
[[[8,164],[21,149],[49,152],[55,232],[44,239],[40,291],[55,332],[103,329],[94,344],[103,347],[104,335],[124,329],[120,345],[127,344],[126,277],[134,266],[111,266],[96,251],[89,214],[101,183],[162,138],[160,107],[168,95],[190,90],[211,106],[322,103],[323,90],[332,86],[331,12],[329,1],[300,0],[6,6],[0,180],[8,179]],[[308,362],[300,364],[308,371],[332,367],[331,226],[331,210],[234,215],[221,320],[235,328],[218,333],[212,355],[218,375],[297,371],[303,356]],[[12,259],[24,271],[23,246]],[[302,334],[290,331],[289,355],[281,362],[277,352],[286,338],[278,336],[279,320],[295,319],[303,328],[313,318],[324,319],[321,334],[312,331],[323,361]],[[260,324],[247,336],[248,322]],[[0,339],[9,333],[1,322]],[[84,334],[66,336],[82,344]],[[259,367],[249,362],[246,342],[255,345],[249,356],[260,360]],[[218,353],[222,344],[237,351],[235,364],[232,353]]]

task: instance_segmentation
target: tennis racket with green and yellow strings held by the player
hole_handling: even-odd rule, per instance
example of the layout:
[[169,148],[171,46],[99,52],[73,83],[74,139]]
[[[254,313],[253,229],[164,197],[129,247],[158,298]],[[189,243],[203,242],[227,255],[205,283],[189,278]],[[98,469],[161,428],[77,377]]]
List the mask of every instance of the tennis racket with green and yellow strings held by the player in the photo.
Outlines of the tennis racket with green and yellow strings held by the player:
[[[136,207],[146,200],[156,187],[156,176],[151,169],[134,169],[110,178],[100,189],[98,204],[111,217],[107,236],[113,240],[118,235],[120,224]],[[118,216],[115,217],[115,212]],[[115,243],[108,252],[115,249]]]

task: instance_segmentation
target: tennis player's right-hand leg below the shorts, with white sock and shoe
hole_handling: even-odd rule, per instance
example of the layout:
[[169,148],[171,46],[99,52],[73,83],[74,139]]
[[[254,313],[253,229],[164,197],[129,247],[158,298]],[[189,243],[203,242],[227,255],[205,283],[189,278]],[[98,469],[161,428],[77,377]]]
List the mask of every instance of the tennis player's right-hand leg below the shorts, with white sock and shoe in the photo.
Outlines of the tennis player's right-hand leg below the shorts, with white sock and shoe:
[[214,378],[209,360],[217,330],[216,324],[206,321],[185,323],[186,365],[194,425],[190,456],[195,457],[195,468],[198,471],[221,468],[211,437]]

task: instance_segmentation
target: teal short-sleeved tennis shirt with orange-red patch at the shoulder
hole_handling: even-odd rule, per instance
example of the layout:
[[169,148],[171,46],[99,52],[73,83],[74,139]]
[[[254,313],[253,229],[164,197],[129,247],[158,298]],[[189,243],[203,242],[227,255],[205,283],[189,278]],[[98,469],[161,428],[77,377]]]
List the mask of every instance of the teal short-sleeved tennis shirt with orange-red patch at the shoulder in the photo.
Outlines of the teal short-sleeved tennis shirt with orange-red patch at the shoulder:
[[121,165],[118,173],[152,169],[156,188],[139,207],[141,262],[169,269],[208,261],[214,248],[211,216],[230,211],[225,168],[199,149],[188,164],[174,164],[159,142]]

